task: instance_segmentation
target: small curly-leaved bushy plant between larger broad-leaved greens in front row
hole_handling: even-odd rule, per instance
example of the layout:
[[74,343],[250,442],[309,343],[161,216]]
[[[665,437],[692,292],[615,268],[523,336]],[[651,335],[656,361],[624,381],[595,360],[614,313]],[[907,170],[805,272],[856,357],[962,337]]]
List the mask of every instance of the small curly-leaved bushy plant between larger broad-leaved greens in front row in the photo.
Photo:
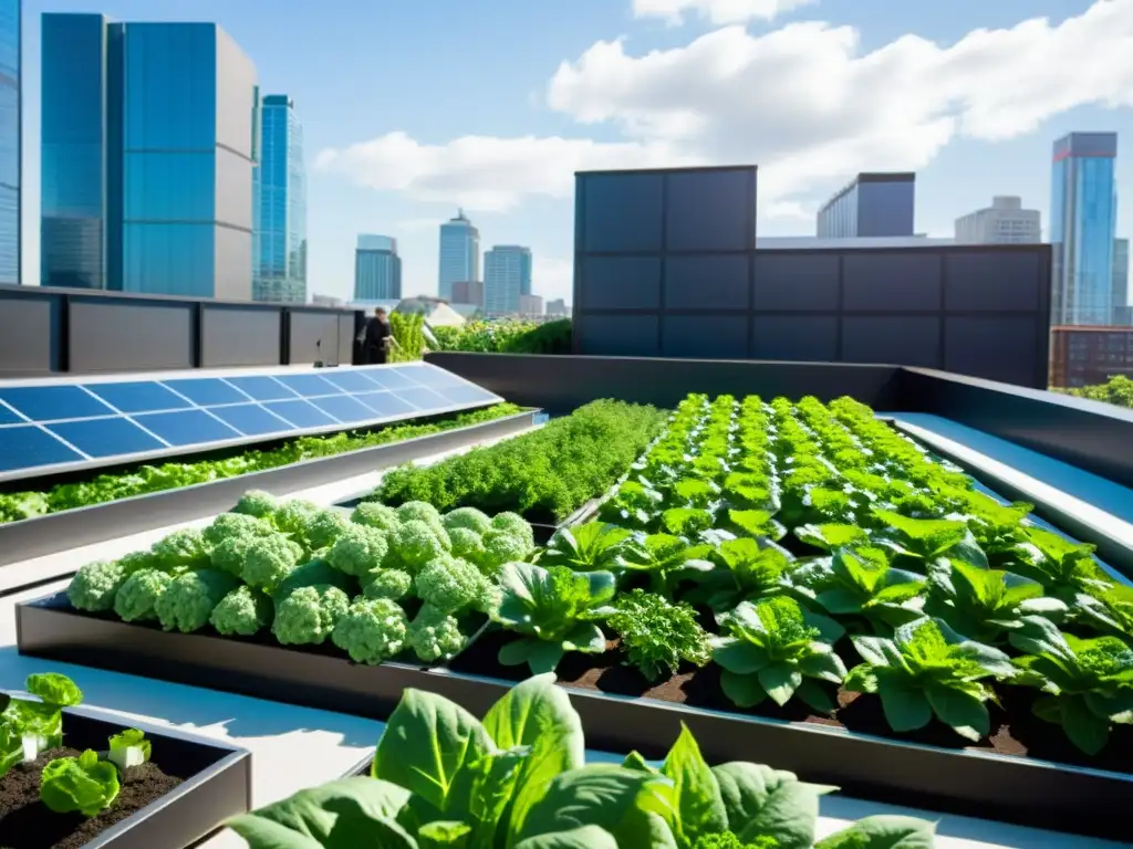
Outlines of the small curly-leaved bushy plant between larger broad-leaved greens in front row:
[[706,666],[708,635],[689,604],[671,604],[661,595],[633,590],[617,597],[606,624],[621,637],[630,663],[649,680],[674,675],[682,660]]

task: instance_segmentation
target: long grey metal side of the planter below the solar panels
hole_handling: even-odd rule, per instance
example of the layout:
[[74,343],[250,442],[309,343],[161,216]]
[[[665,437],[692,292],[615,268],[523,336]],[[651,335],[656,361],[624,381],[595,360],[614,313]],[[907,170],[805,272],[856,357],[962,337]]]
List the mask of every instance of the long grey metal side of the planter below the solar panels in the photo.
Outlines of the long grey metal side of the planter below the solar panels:
[[237,478],[0,524],[0,566],[223,513],[249,489],[295,492],[517,434],[535,423],[536,412],[517,413],[332,457],[305,460]]

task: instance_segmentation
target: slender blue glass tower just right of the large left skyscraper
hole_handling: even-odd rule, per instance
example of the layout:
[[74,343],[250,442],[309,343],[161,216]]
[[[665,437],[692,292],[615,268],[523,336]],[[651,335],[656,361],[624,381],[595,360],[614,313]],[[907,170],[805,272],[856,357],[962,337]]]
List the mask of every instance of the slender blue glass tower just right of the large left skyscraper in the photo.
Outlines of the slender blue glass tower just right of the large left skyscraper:
[[304,303],[307,300],[307,172],[303,125],[295,102],[270,94],[261,109],[256,192],[253,298]]

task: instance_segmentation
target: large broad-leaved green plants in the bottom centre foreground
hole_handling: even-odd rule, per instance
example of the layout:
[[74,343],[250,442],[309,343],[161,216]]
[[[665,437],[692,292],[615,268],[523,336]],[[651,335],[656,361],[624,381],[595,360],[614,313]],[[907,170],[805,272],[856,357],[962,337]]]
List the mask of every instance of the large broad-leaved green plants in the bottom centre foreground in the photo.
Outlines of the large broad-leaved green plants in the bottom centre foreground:
[[682,730],[653,765],[587,764],[578,714],[552,676],[483,721],[407,689],[369,777],[331,781],[232,818],[252,849],[930,849],[934,824],[871,816],[815,842],[837,788],[732,762],[709,766]]

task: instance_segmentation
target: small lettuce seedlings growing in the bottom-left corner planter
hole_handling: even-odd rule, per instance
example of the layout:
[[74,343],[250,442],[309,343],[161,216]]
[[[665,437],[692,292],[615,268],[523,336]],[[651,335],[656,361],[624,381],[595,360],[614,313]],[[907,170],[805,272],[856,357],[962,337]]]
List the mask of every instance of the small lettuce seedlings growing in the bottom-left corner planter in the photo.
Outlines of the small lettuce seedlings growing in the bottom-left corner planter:
[[[83,702],[83,692],[65,675],[29,675],[25,686],[36,700],[0,693],[0,787],[10,772],[34,770],[42,755],[62,751],[62,709]],[[97,816],[113,806],[127,771],[150,755],[150,741],[131,728],[112,735],[104,752],[51,757],[40,770],[40,801],[57,814]]]

